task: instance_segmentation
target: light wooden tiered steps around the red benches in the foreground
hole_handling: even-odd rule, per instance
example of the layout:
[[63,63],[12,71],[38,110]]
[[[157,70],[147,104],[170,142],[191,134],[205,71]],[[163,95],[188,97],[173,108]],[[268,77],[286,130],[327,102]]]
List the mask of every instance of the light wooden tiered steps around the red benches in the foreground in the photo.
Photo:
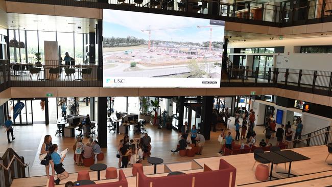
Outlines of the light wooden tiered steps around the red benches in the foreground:
[[[277,174],[276,172],[284,172],[283,165],[276,167],[273,176],[281,178],[272,181],[258,181],[254,176],[254,171],[251,167],[254,163],[253,153],[231,155],[231,156],[217,156],[210,158],[197,158],[192,161],[178,162],[178,163],[165,163],[158,165],[157,174],[153,174],[153,166],[145,166],[144,173],[149,177],[165,176],[169,172],[182,171],[184,173],[202,172],[204,164],[212,170],[219,169],[219,160],[222,158],[229,162],[236,168],[236,181],[237,186],[327,186],[332,184],[332,166],[324,162],[327,155],[326,146],[316,146],[307,148],[292,149],[295,152],[310,157],[310,160],[297,161],[292,163],[291,173],[298,175],[297,177],[287,178],[286,175]],[[332,159],[331,159],[332,162]],[[288,166],[287,166],[288,167]],[[128,186],[135,187],[136,179],[132,177],[131,168],[123,169],[127,176]],[[101,172],[100,181],[97,183],[104,183],[109,181],[116,181],[117,179],[106,180],[104,178],[105,171]],[[65,183],[67,180],[75,181],[77,174],[70,174],[69,178],[61,181]],[[90,172],[91,180],[97,180],[97,172]],[[27,182],[29,180],[29,182]],[[27,185],[33,184],[33,185]],[[45,185],[45,177],[31,177],[28,179],[14,179],[12,186],[43,186]],[[62,185],[59,185],[62,186]]]

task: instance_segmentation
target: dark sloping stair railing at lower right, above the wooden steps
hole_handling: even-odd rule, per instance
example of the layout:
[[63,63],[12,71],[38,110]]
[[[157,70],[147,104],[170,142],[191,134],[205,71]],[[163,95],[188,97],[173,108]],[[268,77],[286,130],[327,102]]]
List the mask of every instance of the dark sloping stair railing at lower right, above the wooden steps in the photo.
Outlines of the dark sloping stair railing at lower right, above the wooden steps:
[[294,139],[293,148],[320,146],[326,145],[332,142],[332,126],[328,126],[319,130],[316,130],[305,135],[301,135],[300,138]]

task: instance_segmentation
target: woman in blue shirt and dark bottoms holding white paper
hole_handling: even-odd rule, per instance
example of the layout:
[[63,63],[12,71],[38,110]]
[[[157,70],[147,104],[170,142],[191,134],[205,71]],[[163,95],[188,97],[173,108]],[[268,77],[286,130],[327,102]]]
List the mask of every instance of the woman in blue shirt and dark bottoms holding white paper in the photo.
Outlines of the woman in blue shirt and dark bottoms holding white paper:
[[49,151],[51,152],[52,160],[54,162],[54,170],[58,174],[58,178],[54,181],[55,184],[59,184],[60,180],[63,180],[65,178],[69,177],[68,172],[66,172],[62,167],[63,166],[62,162],[63,162],[64,158],[66,157],[66,155],[63,155],[63,157],[61,157],[57,153],[58,149],[59,149],[58,145],[56,145],[56,144],[53,144],[52,147],[50,147],[50,149],[49,149]]

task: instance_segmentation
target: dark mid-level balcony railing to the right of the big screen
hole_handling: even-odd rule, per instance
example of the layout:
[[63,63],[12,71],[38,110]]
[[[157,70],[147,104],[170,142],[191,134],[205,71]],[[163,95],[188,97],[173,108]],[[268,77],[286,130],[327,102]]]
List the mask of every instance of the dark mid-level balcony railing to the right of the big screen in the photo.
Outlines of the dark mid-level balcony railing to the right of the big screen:
[[332,96],[332,72],[273,67],[228,67],[222,87],[278,87]]

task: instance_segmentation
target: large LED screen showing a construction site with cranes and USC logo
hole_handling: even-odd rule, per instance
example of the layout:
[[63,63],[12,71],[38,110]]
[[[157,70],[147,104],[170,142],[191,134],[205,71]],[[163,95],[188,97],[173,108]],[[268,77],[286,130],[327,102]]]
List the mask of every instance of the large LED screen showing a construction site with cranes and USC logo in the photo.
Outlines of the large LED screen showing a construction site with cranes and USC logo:
[[225,22],[104,9],[104,87],[220,87]]

